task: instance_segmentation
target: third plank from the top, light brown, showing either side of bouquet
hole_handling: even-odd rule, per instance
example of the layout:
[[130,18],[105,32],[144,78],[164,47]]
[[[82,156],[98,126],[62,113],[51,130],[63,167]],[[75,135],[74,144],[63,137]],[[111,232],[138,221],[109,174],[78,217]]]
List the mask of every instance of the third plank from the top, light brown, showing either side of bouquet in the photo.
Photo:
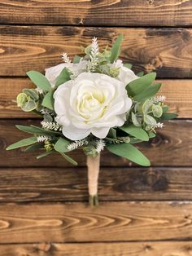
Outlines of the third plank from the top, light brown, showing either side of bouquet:
[[[158,81],[159,82],[159,81]],[[163,83],[159,95],[166,95],[170,111],[178,113],[181,118],[192,117],[192,80],[168,79],[161,80]],[[27,78],[1,78],[0,79],[0,118],[30,117],[37,115],[24,113],[16,107],[13,100],[24,88],[31,88],[33,85]]]

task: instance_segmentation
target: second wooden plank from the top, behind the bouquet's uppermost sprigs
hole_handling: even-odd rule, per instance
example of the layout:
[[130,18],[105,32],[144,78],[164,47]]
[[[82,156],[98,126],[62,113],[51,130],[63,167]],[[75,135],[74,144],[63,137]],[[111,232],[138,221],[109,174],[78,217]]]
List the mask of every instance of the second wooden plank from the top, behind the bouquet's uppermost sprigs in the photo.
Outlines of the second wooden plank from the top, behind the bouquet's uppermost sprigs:
[[91,38],[111,45],[124,33],[120,58],[135,72],[155,70],[158,77],[192,77],[192,29],[117,29],[61,26],[0,26],[0,76],[25,76],[59,64],[63,51],[81,53]]

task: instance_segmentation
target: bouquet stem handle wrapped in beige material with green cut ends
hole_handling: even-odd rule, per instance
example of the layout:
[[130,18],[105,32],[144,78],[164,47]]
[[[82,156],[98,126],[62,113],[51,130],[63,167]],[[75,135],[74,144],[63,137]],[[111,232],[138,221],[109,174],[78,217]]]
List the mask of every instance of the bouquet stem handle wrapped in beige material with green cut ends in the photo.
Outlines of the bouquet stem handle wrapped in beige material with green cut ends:
[[100,169],[100,154],[97,157],[87,156],[89,205],[98,205],[98,174]]

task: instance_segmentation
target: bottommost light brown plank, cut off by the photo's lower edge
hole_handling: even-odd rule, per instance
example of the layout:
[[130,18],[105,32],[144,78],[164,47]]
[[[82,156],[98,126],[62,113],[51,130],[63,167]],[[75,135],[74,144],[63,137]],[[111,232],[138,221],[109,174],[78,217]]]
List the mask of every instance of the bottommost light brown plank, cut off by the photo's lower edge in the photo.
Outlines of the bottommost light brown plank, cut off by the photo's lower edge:
[[191,256],[192,243],[124,242],[0,245],[0,256]]

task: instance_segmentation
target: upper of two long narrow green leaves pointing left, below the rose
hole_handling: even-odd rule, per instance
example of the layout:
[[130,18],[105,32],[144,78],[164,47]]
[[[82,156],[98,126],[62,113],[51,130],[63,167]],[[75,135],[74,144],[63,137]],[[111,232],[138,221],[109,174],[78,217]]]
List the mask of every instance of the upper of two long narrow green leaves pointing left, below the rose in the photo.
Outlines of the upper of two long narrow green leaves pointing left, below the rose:
[[16,126],[19,130],[23,130],[28,132],[29,134],[33,135],[61,135],[60,132],[53,131],[53,130],[44,130],[37,126]]

